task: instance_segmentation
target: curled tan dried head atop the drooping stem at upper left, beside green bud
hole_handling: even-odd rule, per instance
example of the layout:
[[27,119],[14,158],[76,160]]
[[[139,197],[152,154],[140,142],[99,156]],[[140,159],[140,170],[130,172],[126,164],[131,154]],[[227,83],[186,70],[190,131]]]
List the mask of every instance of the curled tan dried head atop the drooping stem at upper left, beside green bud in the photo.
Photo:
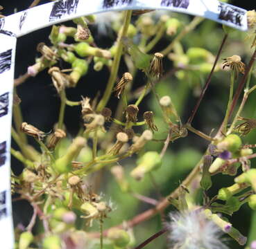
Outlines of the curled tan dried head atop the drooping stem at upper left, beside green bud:
[[66,86],[69,86],[69,76],[62,73],[57,66],[51,67],[48,73],[51,75],[51,80],[58,93],[65,89]]

